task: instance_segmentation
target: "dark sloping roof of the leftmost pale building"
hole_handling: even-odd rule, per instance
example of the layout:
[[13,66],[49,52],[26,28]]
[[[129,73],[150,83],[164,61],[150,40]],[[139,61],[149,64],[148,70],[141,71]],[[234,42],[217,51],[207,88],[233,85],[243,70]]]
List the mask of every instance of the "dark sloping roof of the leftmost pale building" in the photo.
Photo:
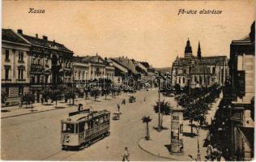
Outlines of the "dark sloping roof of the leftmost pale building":
[[21,36],[13,32],[11,29],[2,28],[2,40],[29,45],[26,40],[23,40]]

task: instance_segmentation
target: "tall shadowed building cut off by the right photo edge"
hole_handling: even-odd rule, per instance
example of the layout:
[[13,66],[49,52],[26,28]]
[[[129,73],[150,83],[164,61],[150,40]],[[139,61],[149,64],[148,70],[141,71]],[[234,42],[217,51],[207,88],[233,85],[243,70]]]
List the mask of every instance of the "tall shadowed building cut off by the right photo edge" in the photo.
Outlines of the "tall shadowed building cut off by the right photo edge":
[[230,45],[230,75],[233,94],[230,105],[230,156],[233,160],[254,157],[255,22],[249,36]]

